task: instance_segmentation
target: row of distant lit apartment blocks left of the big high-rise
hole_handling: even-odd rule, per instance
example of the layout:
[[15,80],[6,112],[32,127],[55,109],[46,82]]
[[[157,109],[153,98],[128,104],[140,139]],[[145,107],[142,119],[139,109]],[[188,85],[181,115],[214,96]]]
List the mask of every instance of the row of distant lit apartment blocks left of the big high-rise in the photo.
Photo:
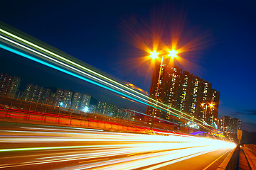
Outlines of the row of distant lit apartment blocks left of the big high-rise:
[[[0,72],[0,96],[61,108],[69,108],[85,113],[95,113],[96,111],[103,115],[109,115],[110,117],[118,115],[119,118],[125,118],[125,115],[120,113],[129,110],[129,108],[120,108],[113,103],[99,101],[96,98],[93,99],[95,101],[90,102],[91,98],[93,98],[90,94],[82,94],[71,89],[59,89],[58,87],[50,88],[29,83],[26,84],[26,88],[21,91],[21,89],[19,89],[21,81],[22,79],[19,77]],[[52,91],[52,89],[55,90]]]

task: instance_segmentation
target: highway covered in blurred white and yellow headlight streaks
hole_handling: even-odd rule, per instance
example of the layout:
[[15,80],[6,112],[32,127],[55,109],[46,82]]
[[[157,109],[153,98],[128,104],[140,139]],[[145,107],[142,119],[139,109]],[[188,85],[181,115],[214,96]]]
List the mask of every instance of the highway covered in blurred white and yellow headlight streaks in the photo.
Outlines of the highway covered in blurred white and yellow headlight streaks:
[[0,135],[0,169],[216,169],[235,147],[190,135],[22,123],[1,122]]

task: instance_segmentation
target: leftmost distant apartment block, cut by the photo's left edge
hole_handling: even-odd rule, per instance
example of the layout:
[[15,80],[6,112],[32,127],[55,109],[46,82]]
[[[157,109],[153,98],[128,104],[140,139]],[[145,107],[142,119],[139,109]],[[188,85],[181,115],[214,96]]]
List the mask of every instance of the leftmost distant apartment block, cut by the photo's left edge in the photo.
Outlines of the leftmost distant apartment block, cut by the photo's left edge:
[[18,77],[11,77],[8,74],[0,74],[0,96],[14,98],[18,91],[18,86],[21,79]]

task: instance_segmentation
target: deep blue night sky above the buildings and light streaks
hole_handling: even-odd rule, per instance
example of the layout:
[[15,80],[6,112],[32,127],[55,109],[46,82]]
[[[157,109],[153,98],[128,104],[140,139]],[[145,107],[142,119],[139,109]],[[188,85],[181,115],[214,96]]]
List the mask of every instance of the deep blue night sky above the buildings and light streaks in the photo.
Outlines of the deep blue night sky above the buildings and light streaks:
[[[0,18],[146,91],[151,69],[139,60],[147,54],[134,42],[135,35],[151,42],[150,31],[159,28],[168,45],[175,26],[183,23],[177,29],[180,45],[193,42],[196,47],[181,54],[186,62],[177,64],[220,91],[219,118],[240,118],[243,129],[256,132],[256,1],[2,0]],[[9,53],[0,52],[0,72],[22,74]],[[36,81],[29,77],[21,79]],[[48,86],[58,86],[50,81]]]

